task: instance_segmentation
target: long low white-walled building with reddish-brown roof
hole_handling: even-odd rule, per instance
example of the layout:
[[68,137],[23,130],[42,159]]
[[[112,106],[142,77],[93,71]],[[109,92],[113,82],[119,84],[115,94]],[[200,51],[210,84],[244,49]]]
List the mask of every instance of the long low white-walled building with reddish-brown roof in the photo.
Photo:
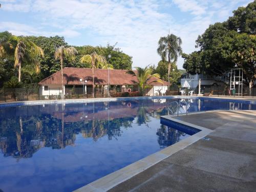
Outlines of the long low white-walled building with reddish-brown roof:
[[[94,83],[96,86],[96,94],[103,94],[104,90],[115,90],[116,92],[126,92],[138,90],[138,79],[136,76],[126,73],[127,70],[94,70]],[[93,87],[92,69],[90,68],[64,68],[63,69],[63,92],[65,95],[91,94]],[[146,95],[157,95],[160,92],[165,93],[168,83],[166,81],[159,82],[159,79],[152,77],[148,82],[150,89]],[[41,87],[41,96],[61,95],[61,71],[41,80],[38,83]],[[130,90],[129,90],[130,89]],[[98,92],[97,92],[98,91]]]

